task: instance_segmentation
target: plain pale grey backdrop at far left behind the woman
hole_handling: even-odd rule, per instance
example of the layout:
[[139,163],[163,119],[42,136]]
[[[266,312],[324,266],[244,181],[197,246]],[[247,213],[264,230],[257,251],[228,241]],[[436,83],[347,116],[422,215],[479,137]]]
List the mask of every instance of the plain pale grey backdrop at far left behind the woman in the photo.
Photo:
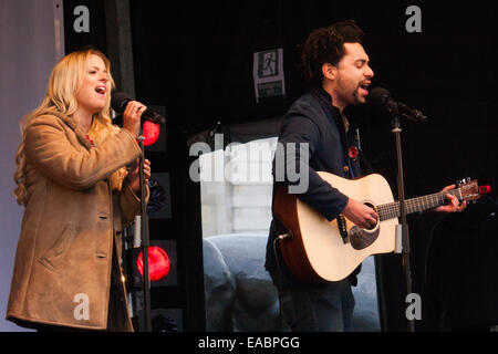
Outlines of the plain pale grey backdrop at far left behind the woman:
[[14,158],[19,121],[43,98],[63,51],[61,3],[0,0],[0,331],[24,331],[4,320],[23,210],[12,194]]

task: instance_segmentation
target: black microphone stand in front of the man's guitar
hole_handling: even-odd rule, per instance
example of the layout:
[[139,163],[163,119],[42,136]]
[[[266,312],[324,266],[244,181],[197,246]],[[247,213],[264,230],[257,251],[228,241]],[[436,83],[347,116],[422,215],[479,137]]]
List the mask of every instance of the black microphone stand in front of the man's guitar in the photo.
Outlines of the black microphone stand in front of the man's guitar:
[[[401,147],[401,124],[400,112],[397,106],[388,110],[393,116],[393,129],[391,131],[396,139],[396,155],[397,155],[397,190],[400,200],[400,218],[401,225],[396,227],[396,252],[402,252],[403,271],[405,274],[406,295],[412,293],[412,270],[409,264],[409,236],[408,223],[406,222],[406,205],[405,205],[405,188],[403,181],[403,159]],[[400,247],[401,241],[401,247]],[[401,248],[401,250],[400,250]],[[406,315],[406,314],[405,314]],[[408,332],[415,332],[415,322],[413,319],[407,319]]]

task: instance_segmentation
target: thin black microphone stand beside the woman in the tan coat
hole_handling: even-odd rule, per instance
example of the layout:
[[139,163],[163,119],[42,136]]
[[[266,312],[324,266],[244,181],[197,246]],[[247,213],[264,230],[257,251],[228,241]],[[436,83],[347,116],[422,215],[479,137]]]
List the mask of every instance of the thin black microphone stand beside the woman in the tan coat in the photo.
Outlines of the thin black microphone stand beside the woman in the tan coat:
[[142,233],[142,254],[144,260],[144,323],[145,332],[152,332],[151,321],[151,278],[148,274],[148,247],[151,246],[148,235],[148,215],[147,205],[145,202],[145,175],[144,175],[144,139],[142,127],[141,135],[138,136],[138,144],[141,147],[141,156],[138,163],[139,179],[141,179],[141,233]]

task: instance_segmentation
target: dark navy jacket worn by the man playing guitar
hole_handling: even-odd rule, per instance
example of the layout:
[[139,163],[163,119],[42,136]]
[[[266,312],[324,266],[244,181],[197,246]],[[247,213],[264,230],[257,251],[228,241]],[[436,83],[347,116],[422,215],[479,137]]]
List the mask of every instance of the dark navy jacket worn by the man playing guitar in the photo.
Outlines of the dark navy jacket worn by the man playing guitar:
[[[292,146],[289,143],[293,143],[295,148],[289,148]],[[309,158],[300,154],[299,146],[305,143],[309,144]],[[283,148],[280,153],[279,149],[277,150],[273,159],[273,196],[279,185],[295,186],[301,181],[288,175],[288,167],[291,170],[294,168],[298,175],[302,168],[304,171],[308,169],[309,186],[303,194],[298,194],[298,197],[328,220],[336,218],[346,206],[349,198],[324,181],[317,171],[328,171],[344,178],[363,175],[360,155],[355,154],[360,153],[360,138],[354,124],[350,122],[346,134],[341,114],[332,105],[331,96],[322,88],[313,88],[295,101],[286,114],[279,135],[279,145]],[[286,178],[278,178],[281,171],[276,168],[282,166],[279,165],[279,160],[286,162]],[[273,248],[273,241],[282,230],[282,225],[273,217],[264,267],[274,274],[278,269],[276,263],[278,259],[281,270],[279,278],[282,284],[299,285],[299,282],[286,269],[278,247]]]

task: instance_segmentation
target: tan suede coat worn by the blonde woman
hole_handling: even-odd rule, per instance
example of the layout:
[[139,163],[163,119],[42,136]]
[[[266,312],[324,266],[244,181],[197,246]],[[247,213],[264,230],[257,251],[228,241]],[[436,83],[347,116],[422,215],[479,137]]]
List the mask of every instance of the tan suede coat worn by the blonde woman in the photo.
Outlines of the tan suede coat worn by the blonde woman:
[[[113,237],[139,212],[139,199],[116,170],[139,153],[126,129],[96,145],[65,115],[30,121],[28,202],[8,320],[106,329]],[[133,330],[126,320],[124,330]]]

